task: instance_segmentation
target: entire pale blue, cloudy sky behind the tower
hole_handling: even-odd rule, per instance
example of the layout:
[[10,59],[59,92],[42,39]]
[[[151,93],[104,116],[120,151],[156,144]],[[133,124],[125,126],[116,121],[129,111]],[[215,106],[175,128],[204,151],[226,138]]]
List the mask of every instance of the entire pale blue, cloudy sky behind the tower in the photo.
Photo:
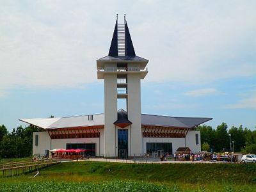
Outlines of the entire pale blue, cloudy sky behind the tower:
[[108,54],[116,13],[149,60],[142,113],[256,126],[256,1],[0,4],[0,124],[9,130],[19,118],[104,112],[96,60]]

